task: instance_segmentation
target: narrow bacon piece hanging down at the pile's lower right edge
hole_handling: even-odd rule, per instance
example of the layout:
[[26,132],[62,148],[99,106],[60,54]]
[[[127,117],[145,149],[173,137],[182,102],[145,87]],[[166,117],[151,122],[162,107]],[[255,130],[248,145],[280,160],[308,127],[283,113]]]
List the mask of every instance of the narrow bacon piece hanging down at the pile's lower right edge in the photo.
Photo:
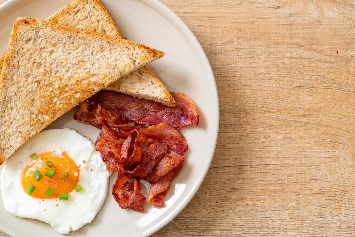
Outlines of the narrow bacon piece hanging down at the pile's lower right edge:
[[182,168],[182,162],[184,162],[184,157],[182,157],[181,162],[175,168],[165,174],[162,178],[159,179],[157,183],[153,183],[151,188],[149,189],[148,194],[148,203],[154,206],[162,206],[163,205],[163,198],[166,194],[166,191],[169,189],[169,185],[171,180],[179,173],[180,169]]

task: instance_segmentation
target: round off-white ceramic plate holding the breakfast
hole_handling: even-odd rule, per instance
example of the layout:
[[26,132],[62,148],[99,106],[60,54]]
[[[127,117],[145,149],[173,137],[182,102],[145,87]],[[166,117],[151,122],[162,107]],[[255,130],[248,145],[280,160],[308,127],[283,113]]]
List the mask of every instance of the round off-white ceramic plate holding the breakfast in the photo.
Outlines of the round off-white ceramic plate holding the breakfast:
[[[70,0],[10,0],[0,6],[0,52],[9,41],[13,21],[28,16],[45,19]],[[211,164],[217,142],[219,105],[211,66],[200,43],[185,23],[157,0],[103,0],[122,34],[127,39],[165,52],[164,58],[150,63],[149,68],[170,91],[183,92],[195,102],[198,126],[189,125],[180,131],[189,150],[184,167],[173,179],[164,198],[165,205],[153,207],[145,203],[144,212],[122,210],[109,191],[102,211],[91,224],[70,232],[69,236],[149,236],[169,223],[195,195]],[[71,128],[96,140],[99,129],[73,120],[75,109],[64,114],[48,128]],[[2,169],[2,167],[1,167]],[[116,174],[110,179],[114,182]],[[148,187],[141,185],[147,196]],[[21,219],[4,209],[0,200],[0,230],[10,236],[61,236],[44,222]]]

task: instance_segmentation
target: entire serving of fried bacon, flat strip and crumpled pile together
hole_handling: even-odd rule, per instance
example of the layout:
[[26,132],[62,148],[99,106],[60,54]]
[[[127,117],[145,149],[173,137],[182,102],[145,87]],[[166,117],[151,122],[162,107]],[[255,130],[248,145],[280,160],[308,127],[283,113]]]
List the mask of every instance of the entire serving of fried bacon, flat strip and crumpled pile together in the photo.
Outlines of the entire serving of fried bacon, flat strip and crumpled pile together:
[[[74,119],[101,128],[95,147],[107,170],[118,172],[112,194],[122,209],[144,210],[146,198],[140,193],[138,178],[151,183],[148,203],[163,205],[170,182],[182,167],[187,142],[177,129],[198,125],[199,117],[188,96],[171,95],[175,108],[102,90],[81,102],[74,114]],[[142,128],[142,124],[152,126]]]

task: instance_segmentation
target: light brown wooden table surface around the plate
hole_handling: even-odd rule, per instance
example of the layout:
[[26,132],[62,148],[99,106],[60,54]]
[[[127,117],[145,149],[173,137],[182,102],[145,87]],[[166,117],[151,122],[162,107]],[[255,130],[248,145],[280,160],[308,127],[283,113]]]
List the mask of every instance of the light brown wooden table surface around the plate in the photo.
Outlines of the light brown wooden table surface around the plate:
[[201,188],[153,236],[354,235],[354,2],[161,1],[211,62],[220,126]]

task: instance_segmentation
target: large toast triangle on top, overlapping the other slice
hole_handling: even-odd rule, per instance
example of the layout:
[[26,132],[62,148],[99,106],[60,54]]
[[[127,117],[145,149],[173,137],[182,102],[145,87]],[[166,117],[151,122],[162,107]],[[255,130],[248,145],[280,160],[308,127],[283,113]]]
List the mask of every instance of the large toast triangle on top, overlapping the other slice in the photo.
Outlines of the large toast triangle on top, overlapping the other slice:
[[18,18],[0,76],[0,164],[60,115],[163,54],[107,34]]

